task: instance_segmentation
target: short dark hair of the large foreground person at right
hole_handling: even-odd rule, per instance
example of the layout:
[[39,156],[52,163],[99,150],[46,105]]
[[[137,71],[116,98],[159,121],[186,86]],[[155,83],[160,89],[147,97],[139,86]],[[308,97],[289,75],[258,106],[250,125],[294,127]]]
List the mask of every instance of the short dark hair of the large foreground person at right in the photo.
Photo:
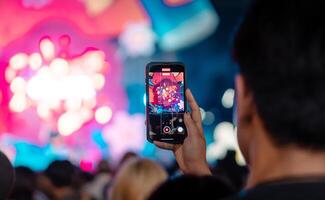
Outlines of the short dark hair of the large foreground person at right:
[[325,149],[325,1],[256,0],[234,56],[278,145]]

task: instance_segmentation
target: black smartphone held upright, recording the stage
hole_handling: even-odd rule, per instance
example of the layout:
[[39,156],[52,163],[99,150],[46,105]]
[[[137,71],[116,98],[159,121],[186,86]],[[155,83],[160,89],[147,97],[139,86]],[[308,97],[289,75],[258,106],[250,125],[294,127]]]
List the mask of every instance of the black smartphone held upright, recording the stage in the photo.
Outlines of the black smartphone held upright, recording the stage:
[[145,74],[148,141],[183,143],[187,136],[184,64],[151,62]]

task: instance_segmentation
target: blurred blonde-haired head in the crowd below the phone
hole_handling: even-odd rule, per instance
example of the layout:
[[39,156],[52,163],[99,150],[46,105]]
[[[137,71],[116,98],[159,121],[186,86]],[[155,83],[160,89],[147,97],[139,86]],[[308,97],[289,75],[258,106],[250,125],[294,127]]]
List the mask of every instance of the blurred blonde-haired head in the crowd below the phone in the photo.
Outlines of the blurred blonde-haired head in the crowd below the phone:
[[166,171],[155,162],[130,159],[118,171],[109,199],[144,200],[166,179]]

